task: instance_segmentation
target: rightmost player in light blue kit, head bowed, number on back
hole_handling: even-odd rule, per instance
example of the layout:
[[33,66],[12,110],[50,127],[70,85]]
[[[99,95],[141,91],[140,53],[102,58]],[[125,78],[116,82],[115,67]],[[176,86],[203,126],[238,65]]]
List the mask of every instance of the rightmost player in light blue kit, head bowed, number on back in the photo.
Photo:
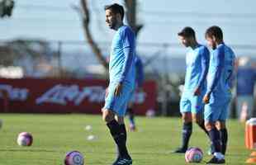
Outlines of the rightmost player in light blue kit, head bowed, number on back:
[[211,47],[207,89],[203,97],[205,106],[205,126],[214,146],[213,158],[208,163],[225,163],[225,149],[228,133],[225,127],[228,106],[231,99],[230,89],[234,79],[235,54],[225,45],[219,26],[206,30],[207,44]]

